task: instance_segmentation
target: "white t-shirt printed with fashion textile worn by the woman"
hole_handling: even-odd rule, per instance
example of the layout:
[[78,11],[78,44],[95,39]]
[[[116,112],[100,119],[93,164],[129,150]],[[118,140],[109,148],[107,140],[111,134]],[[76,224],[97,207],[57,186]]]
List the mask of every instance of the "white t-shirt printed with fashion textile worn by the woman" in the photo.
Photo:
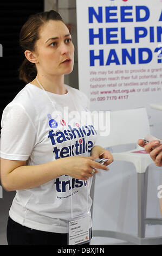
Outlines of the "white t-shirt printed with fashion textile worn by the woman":
[[[70,155],[90,155],[97,137],[94,126],[80,125],[80,119],[74,115],[69,118],[64,112],[67,107],[68,113],[87,111],[88,98],[75,88],[65,87],[68,92],[60,95],[28,83],[5,107],[1,121],[3,159],[27,160],[27,165],[36,165]],[[49,99],[64,115],[57,115]],[[92,179],[87,182],[62,175],[41,186],[18,190],[9,216],[29,228],[67,233],[71,209],[73,217],[90,211],[91,183]]]

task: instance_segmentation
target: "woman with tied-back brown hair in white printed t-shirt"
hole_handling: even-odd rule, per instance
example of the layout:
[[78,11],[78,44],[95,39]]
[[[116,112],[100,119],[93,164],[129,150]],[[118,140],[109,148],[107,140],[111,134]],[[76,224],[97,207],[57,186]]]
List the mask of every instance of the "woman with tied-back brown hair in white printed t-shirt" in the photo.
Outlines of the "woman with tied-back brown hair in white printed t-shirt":
[[[71,118],[72,111],[87,111],[88,100],[64,84],[73,70],[74,45],[61,16],[54,10],[30,16],[20,45],[20,78],[27,85],[5,107],[1,130],[2,185],[17,191],[8,244],[67,245],[68,221],[90,216],[91,178],[96,168],[107,170],[113,157],[94,145],[92,124],[80,126]],[[96,158],[108,161],[101,165]]]

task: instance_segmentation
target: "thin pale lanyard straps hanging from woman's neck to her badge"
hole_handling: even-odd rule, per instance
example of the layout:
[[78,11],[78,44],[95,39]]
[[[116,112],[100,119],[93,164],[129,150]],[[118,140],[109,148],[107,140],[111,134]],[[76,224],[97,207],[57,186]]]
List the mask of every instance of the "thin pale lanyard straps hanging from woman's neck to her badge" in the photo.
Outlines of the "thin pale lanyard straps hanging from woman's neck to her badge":
[[[38,82],[38,84],[40,85],[40,87],[43,89],[43,92],[47,95],[49,101],[51,102],[51,105],[54,107],[54,109],[55,109],[55,111],[56,111],[57,116],[58,116],[58,117],[60,118],[60,120],[61,120],[60,114],[59,114],[59,112],[57,111],[56,106],[55,106],[55,105],[56,105],[56,102],[55,102],[55,101],[52,101],[52,100],[50,99],[48,93],[46,92],[46,90],[44,89],[44,87],[42,86],[42,84],[38,81],[38,78],[37,78],[37,77],[36,77],[36,81]],[[72,91],[72,93],[73,93],[73,91]],[[74,95],[74,93],[73,93],[73,95]],[[74,95],[74,99],[76,99],[76,95]],[[79,99],[79,101],[80,101],[80,99]],[[76,106],[76,103],[75,103],[75,102],[74,102],[74,106],[75,106],[75,109],[76,109],[77,111],[79,111],[79,107]],[[68,132],[67,124],[63,124],[63,125],[64,125],[66,131]],[[68,135],[69,135],[69,132],[68,132]],[[70,138],[70,135],[69,135],[69,138]],[[70,145],[71,145],[71,153],[72,153],[72,139],[71,139],[71,138],[70,138]],[[86,134],[86,145],[87,145],[86,156],[88,156],[87,134]],[[85,148],[85,149],[86,149],[86,148]],[[92,177],[90,177],[88,180],[90,181],[90,179],[92,179]],[[72,184],[72,176],[70,176],[70,182],[71,182],[71,184]],[[90,183],[90,182],[87,181],[87,184],[86,184],[86,186],[85,186],[85,188],[87,189],[87,214],[89,214],[89,212],[88,212],[88,195],[89,195],[88,186],[89,186],[89,183]],[[72,195],[71,195],[71,219],[73,219],[73,217],[74,217],[74,216],[73,216],[73,186],[72,186]]]

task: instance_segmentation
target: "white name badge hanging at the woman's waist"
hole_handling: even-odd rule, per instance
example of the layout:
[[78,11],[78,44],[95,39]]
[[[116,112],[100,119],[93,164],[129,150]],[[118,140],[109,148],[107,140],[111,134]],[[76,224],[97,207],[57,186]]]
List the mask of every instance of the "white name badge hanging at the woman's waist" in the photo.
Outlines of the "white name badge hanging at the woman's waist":
[[90,215],[68,222],[68,245],[81,245],[90,241]]

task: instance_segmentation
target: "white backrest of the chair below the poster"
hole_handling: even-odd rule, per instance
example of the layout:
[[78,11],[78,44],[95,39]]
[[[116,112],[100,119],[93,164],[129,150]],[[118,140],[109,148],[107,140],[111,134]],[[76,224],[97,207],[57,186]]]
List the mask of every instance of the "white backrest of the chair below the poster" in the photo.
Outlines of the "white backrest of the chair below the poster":
[[146,108],[111,111],[110,133],[107,137],[99,137],[101,147],[112,147],[121,144],[137,143],[150,133],[150,125]]

